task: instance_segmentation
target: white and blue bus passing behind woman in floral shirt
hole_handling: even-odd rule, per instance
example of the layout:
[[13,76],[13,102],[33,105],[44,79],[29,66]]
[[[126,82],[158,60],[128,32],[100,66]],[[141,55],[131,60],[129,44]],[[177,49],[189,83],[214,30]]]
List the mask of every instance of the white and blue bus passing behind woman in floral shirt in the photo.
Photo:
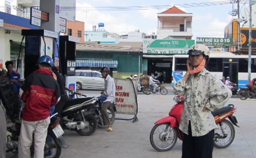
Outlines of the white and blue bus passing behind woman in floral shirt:
[[[188,57],[189,55],[173,56],[171,86],[185,75]],[[229,76],[230,81],[237,84],[238,88],[245,88],[248,84],[248,60],[248,55],[210,51],[210,60],[206,69],[219,80]],[[256,56],[251,56],[251,79],[253,77],[256,77]]]

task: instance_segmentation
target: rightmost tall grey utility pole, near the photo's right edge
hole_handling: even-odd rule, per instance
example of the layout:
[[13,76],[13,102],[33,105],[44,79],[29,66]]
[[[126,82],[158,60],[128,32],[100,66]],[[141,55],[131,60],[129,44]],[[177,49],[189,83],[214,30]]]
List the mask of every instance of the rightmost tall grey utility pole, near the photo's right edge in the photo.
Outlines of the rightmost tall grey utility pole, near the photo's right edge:
[[251,0],[249,1],[249,52],[248,52],[248,84],[250,84],[251,80]]

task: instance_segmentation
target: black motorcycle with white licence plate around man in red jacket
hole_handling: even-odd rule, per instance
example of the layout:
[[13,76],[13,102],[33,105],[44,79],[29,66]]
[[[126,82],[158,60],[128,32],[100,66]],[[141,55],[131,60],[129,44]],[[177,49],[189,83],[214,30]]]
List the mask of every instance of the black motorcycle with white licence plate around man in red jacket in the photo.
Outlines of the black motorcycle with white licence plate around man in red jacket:
[[[6,77],[0,77],[0,97],[7,113],[9,114],[12,124],[7,126],[7,131],[11,135],[7,135],[6,152],[13,152],[18,154],[19,134],[21,133],[21,118],[22,106],[19,103],[17,94],[14,92],[13,85]],[[50,124],[47,130],[47,137],[45,140],[44,157],[59,157],[61,155],[61,148],[67,148],[69,145],[63,139],[63,130],[59,126],[59,118],[56,114],[50,117]],[[34,143],[31,145],[31,156],[34,155]]]

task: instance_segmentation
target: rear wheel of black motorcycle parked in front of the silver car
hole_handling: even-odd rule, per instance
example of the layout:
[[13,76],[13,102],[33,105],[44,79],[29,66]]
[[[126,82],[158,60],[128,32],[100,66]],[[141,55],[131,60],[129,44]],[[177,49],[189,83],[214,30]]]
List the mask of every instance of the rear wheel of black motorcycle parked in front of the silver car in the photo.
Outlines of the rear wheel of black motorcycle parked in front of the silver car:
[[89,136],[92,135],[96,129],[97,129],[97,119],[94,117],[94,115],[85,115],[85,122],[83,119],[81,119],[83,123],[87,125],[87,127],[83,130],[77,130],[77,133],[82,136]]

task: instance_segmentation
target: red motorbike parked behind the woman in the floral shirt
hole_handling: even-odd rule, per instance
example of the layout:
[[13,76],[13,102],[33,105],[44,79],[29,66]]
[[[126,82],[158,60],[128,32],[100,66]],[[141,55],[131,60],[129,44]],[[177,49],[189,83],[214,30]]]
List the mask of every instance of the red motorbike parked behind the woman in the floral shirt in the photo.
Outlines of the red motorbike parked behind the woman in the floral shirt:
[[[159,119],[150,132],[150,143],[157,151],[168,151],[174,147],[177,138],[182,140],[182,131],[179,130],[181,123],[181,114],[183,110],[184,97],[176,95],[174,101],[177,102],[170,112],[169,116]],[[221,109],[214,110],[213,114],[218,129],[214,131],[214,147],[226,148],[235,138],[235,128],[237,127],[237,118],[233,116],[237,108],[234,105],[226,105]],[[226,118],[229,118],[227,120]]]

